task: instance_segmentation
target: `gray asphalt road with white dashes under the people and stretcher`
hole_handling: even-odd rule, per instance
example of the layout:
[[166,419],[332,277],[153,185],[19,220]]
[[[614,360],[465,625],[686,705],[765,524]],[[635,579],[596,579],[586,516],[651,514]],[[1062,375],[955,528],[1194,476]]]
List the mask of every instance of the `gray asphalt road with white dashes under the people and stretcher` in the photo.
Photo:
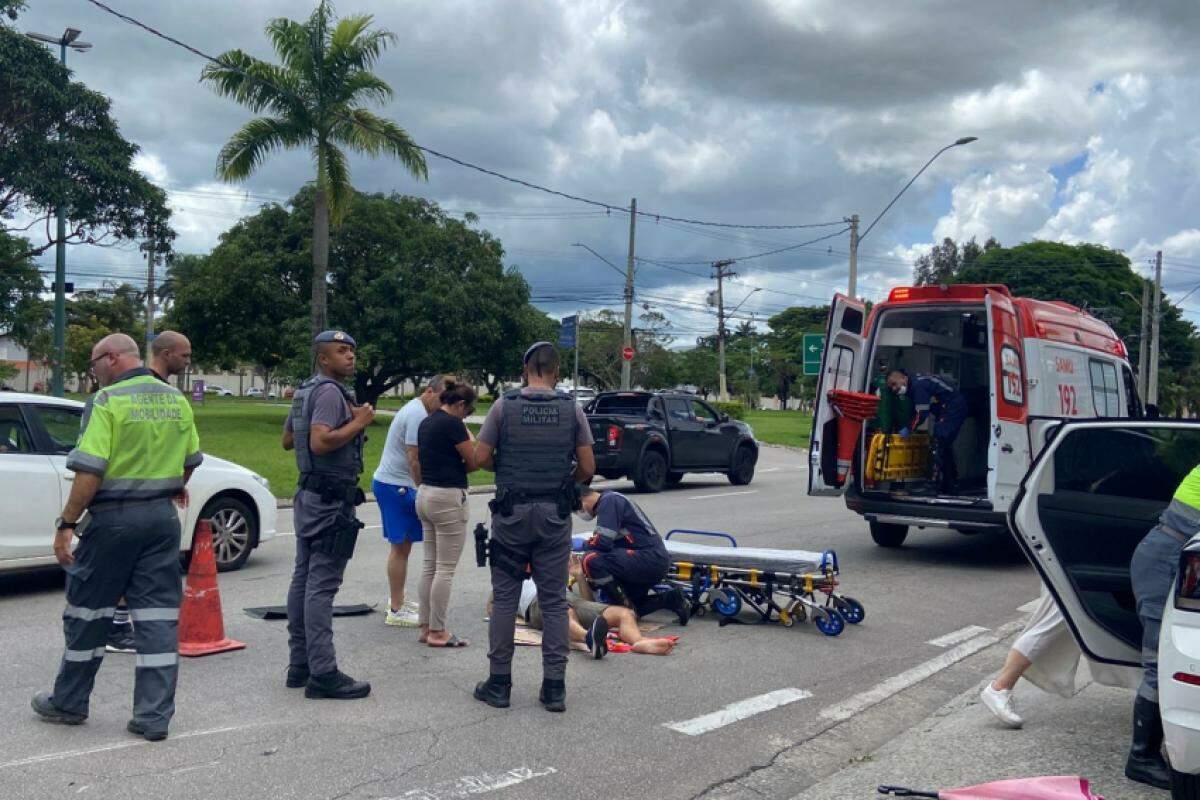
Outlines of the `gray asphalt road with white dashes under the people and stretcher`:
[[[662,531],[724,530],[744,546],[836,548],[842,589],[865,604],[865,622],[838,638],[810,622],[672,624],[680,645],[668,657],[572,655],[562,715],[538,704],[534,648],[518,648],[511,709],[470,697],[487,673],[487,582],[469,551],[450,625],[472,645],[420,646],[415,631],[386,627],[382,614],[340,619],[342,668],[370,679],[373,693],[337,703],[284,688],[284,624],[241,610],[283,601],[294,540],[264,545],[244,570],[221,576],[226,630],[247,649],[185,660],[172,738],[155,745],[125,732],[131,656],[106,658],[85,726],[35,718],[29,698],[50,686],[61,656],[62,582],[54,572],[0,578],[0,796],[692,798],[953,669],[978,650],[972,642],[998,634],[1037,596],[1036,577],[1004,537],[914,531],[906,547],[886,551],[840,499],[808,498],[806,477],[803,455],[770,449],[749,487],[689,476],[677,491],[637,501]],[[472,525],[485,518],[486,500],[472,497]],[[338,601],[382,607],[386,546],[378,510],[364,509],[370,527]],[[288,512],[280,529],[292,529]],[[946,699],[962,688],[947,682]],[[666,727],[684,721],[712,729],[688,735]]]

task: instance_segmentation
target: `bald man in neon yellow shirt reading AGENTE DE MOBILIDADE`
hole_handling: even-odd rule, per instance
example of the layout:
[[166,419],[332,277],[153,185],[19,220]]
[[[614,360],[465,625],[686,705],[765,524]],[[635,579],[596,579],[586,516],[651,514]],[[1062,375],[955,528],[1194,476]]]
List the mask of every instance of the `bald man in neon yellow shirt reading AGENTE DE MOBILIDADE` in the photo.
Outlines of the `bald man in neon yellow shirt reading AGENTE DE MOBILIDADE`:
[[[161,741],[175,714],[179,676],[181,531],[172,498],[203,456],[187,398],[142,366],[132,338],[102,338],[91,368],[101,389],[67,456],[76,477],[54,536],[54,555],[67,572],[66,652],[53,693],[35,694],[32,705],[49,722],[88,718],[108,625],[124,596],[137,624],[133,718],[126,728]],[[80,542],[72,552],[77,529]]]

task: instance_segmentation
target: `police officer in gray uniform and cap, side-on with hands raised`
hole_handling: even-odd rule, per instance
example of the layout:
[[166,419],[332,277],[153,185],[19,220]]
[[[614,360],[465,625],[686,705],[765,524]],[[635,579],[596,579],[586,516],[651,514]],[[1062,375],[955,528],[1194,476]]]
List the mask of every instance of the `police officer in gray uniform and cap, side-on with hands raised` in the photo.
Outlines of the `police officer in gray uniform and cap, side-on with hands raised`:
[[354,507],[365,499],[364,431],[374,420],[343,381],[354,377],[354,339],[324,331],[313,339],[317,374],[300,385],[283,431],[283,449],[295,449],[300,482],[293,503],[296,563],[288,589],[287,685],[305,697],[353,699],[371,684],[337,669],[334,654],[334,595],[342,585],[359,530]]

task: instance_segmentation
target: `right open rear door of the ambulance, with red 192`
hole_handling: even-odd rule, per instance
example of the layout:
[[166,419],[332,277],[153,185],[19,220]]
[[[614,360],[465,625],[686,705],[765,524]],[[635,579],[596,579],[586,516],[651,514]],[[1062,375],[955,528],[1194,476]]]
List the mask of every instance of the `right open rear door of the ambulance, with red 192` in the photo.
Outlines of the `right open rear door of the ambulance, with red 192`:
[[1030,464],[1025,356],[1012,299],[1000,291],[988,291],[985,305],[991,375],[988,497],[997,511],[1004,511],[1016,497]]

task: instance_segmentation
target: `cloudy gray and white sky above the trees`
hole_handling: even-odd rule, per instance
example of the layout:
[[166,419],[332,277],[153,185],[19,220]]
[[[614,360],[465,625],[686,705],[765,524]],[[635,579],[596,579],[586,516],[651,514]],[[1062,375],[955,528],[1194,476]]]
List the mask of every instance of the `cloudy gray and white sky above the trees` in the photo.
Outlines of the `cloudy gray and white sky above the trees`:
[[[109,0],[209,52],[272,59],[263,25],[302,0]],[[311,179],[278,154],[244,185],[216,181],[223,142],[250,115],[198,82],[197,56],[84,0],[32,0],[24,30],[80,28],[70,66],[113,98],[139,166],[170,191],[178,248],[204,252],[239,216]],[[379,109],[421,144],[487,168],[660,215],[751,225],[863,227],[940,148],[947,151],[863,241],[859,291],[905,283],[942,236],[1100,242],[1146,270],[1164,251],[1169,294],[1200,283],[1200,6],[1133,2],[835,0],[341,0],[398,35],[377,72]],[[475,211],[547,311],[617,302],[629,217],[436,158],[427,182],[356,158],[360,190]],[[752,230],[642,217],[638,302],[680,339],[715,329],[708,261],[754,255],[727,297],[744,312],[845,290],[844,225]],[[689,264],[689,261],[691,261]],[[132,251],[71,251],[80,285],[140,275]],[[90,273],[90,275],[86,275]],[[1200,294],[1186,305],[1200,308]],[[1193,319],[1200,319],[1194,314]]]

